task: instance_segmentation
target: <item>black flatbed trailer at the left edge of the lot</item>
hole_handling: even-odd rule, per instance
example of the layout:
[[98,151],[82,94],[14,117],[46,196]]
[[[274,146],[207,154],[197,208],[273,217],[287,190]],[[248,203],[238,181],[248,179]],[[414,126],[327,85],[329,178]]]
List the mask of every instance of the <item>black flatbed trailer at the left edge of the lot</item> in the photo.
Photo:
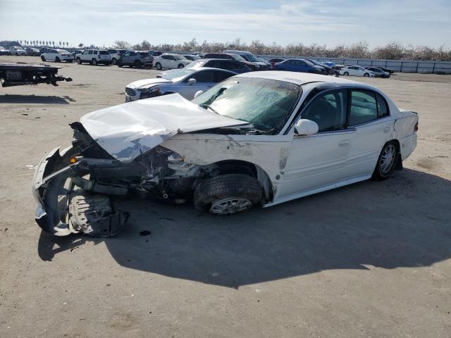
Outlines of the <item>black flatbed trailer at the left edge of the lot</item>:
[[58,81],[72,81],[70,77],[57,75],[54,65],[31,65],[26,63],[0,63],[0,82],[2,87],[25,84],[47,83],[58,86]]

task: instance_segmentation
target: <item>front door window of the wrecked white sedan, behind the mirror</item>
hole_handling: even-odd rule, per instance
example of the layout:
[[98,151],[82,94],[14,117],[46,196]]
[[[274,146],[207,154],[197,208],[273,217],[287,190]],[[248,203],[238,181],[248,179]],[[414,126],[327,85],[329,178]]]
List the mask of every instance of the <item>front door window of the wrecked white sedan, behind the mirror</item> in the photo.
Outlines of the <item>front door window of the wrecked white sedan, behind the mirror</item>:
[[301,113],[301,118],[312,120],[318,132],[333,132],[345,129],[347,113],[347,91],[335,90],[316,96]]

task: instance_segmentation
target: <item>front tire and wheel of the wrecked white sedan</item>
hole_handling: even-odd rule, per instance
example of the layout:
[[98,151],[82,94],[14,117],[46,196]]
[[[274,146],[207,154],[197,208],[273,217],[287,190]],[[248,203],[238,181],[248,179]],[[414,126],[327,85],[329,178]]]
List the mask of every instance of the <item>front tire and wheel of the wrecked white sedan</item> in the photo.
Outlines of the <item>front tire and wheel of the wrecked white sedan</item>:
[[194,206],[214,215],[244,213],[261,201],[261,184],[243,174],[208,178],[194,189]]

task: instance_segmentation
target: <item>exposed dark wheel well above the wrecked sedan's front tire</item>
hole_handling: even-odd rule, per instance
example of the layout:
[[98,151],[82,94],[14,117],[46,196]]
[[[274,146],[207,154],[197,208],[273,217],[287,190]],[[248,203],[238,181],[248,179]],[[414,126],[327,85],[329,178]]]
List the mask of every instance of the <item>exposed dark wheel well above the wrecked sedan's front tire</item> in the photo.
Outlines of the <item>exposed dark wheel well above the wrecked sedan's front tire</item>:
[[227,174],[243,174],[256,178],[264,189],[264,196],[266,201],[273,199],[273,184],[269,175],[264,169],[247,161],[240,160],[226,160],[205,165],[204,170],[210,173],[211,176],[227,175]]

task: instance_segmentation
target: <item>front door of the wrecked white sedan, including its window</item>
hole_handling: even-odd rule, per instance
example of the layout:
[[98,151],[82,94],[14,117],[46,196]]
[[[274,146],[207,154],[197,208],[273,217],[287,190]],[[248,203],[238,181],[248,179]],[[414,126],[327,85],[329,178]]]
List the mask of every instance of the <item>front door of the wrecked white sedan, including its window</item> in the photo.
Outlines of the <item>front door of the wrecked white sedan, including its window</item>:
[[295,123],[291,127],[294,136],[276,198],[292,199],[321,192],[349,177],[346,164],[355,130],[346,128],[346,116],[346,89],[321,92],[302,105],[295,123],[299,118],[313,120],[319,131],[302,136],[295,133]]

